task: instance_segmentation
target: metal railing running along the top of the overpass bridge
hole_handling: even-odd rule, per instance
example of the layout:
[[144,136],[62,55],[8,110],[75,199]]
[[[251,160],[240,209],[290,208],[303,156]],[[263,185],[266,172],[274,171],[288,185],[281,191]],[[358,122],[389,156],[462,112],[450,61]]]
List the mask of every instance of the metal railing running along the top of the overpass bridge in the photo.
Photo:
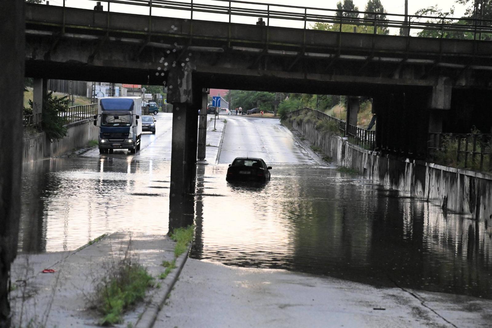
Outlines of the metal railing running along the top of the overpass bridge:
[[[95,0],[86,0],[92,3]],[[398,28],[406,31],[406,35],[410,37],[412,30],[431,30],[437,31],[431,37],[444,37],[447,32],[461,32],[469,33],[467,36],[463,34],[462,38],[465,39],[482,39],[482,36],[486,38],[492,38],[492,20],[478,19],[478,18],[454,18],[454,17],[439,17],[439,16],[423,16],[423,15],[403,15],[392,13],[374,13],[365,11],[349,11],[339,9],[326,9],[316,7],[303,7],[294,5],[283,4],[269,4],[260,2],[249,2],[239,0],[215,0],[215,3],[206,3],[206,0],[189,0],[189,1],[168,1],[168,0],[101,0],[106,4],[105,11],[108,12],[108,30],[109,30],[109,13],[111,12],[111,3],[126,4],[132,6],[145,6],[149,7],[149,28],[148,34],[152,33],[152,16],[155,16],[152,12],[153,8],[165,8],[169,10],[181,10],[189,11],[189,19],[193,20],[194,13],[211,13],[223,15],[223,21],[229,23],[232,22],[232,18],[236,16],[248,16],[266,19],[261,25],[279,26],[277,20],[290,20],[304,23],[304,29],[309,28],[307,23],[328,23],[339,25],[339,32],[342,31],[343,25],[356,25],[366,26],[368,29],[366,32],[377,34],[378,27],[382,28]],[[80,4],[79,4],[80,5]],[[65,12],[64,8],[67,7],[66,1],[63,0],[63,29],[65,30]],[[102,8],[101,8],[102,9]],[[128,12],[133,12],[131,9]],[[353,15],[364,15],[364,17],[350,17]],[[384,15],[386,19],[381,19],[380,16]],[[167,16],[167,15],[162,15]],[[168,17],[175,17],[172,13]],[[186,17],[188,18],[188,17]],[[196,17],[195,17],[196,19]],[[214,19],[217,21],[217,19]],[[218,20],[221,21],[221,20]],[[260,23],[260,22],[258,22]],[[257,23],[257,24],[258,24]],[[258,24],[259,25],[259,24]],[[192,29],[190,30],[192,34]],[[483,34],[483,35],[482,35]],[[471,37],[473,35],[473,37]],[[459,35],[455,35],[459,36]],[[459,37],[456,37],[459,38]],[[268,43],[268,40],[267,40]]]

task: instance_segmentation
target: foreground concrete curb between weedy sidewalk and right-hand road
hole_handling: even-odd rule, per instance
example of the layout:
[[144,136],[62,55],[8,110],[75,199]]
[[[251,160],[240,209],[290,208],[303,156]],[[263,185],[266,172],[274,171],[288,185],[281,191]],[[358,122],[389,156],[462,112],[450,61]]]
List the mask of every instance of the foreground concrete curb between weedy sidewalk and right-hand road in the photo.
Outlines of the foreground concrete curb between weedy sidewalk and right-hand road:
[[[188,250],[181,254],[176,259],[176,270],[171,271],[167,277],[161,282],[163,286],[157,293],[154,294],[154,297],[149,302],[149,305],[146,307],[145,311],[140,316],[140,319],[135,324],[134,328],[152,328],[154,327],[155,319],[159,314],[162,305],[168,298],[171,290],[174,287],[176,281],[178,281],[181,270],[184,267],[184,263],[186,263],[186,259],[188,258],[189,251],[191,249],[192,242],[189,243]],[[165,286],[165,287],[164,287]]]

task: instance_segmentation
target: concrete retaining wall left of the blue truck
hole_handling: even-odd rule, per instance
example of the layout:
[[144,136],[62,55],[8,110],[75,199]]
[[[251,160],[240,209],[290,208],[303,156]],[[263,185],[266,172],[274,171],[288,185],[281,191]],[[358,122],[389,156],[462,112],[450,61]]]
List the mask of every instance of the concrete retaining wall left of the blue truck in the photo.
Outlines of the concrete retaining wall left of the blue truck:
[[99,127],[94,126],[92,119],[71,123],[67,127],[67,135],[58,141],[51,142],[44,132],[25,136],[22,161],[30,162],[60,156],[74,148],[87,146],[91,140],[97,140]]

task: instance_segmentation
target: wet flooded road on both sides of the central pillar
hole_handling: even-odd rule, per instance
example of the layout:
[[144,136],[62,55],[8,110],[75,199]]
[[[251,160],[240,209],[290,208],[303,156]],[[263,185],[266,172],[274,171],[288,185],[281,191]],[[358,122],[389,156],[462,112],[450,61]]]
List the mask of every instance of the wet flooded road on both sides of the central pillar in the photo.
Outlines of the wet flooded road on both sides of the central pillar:
[[[23,166],[19,249],[75,249],[103,233],[166,234],[171,116],[143,149]],[[227,117],[218,165],[197,168],[190,256],[492,298],[491,228],[322,163],[276,119]],[[236,156],[273,166],[265,184],[225,181]]]

